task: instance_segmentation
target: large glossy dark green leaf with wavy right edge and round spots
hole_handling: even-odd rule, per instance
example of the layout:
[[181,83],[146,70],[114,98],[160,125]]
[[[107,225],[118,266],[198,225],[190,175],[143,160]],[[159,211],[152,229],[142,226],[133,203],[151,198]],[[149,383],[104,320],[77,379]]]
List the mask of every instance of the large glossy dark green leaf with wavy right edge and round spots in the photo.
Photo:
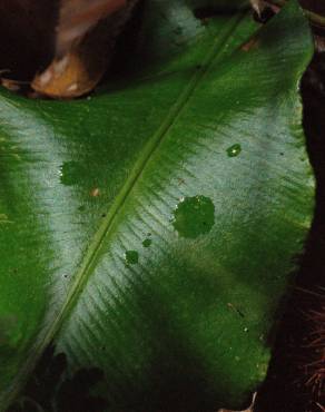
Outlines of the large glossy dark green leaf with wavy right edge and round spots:
[[313,47],[295,1],[263,28],[207,4],[148,1],[87,99],[1,90],[2,410],[51,342],[109,411],[239,410],[263,381],[313,216]]

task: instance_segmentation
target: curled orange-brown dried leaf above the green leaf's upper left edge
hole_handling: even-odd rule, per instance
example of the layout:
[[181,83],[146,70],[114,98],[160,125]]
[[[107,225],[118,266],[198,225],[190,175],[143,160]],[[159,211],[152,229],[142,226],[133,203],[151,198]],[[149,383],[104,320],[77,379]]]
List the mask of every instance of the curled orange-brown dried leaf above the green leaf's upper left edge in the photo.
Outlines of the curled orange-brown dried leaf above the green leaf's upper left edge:
[[51,65],[31,84],[41,95],[73,98],[104,76],[115,40],[137,0],[63,0]]

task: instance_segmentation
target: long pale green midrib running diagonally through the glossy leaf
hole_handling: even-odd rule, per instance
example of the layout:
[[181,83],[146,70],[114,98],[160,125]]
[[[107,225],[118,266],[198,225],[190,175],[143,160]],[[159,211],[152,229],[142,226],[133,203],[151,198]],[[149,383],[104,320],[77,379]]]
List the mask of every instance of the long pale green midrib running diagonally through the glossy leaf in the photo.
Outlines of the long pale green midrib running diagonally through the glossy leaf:
[[7,400],[4,400],[3,402],[4,403],[2,405],[3,409],[0,405],[2,411],[6,411],[10,403],[14,401],[16,396],[18,395],[21,388],[26,383],[30,371],[35,367],[36,362],[41,356],[45,349],[52,342],[55,335],[59,331],[63,321],[67,318],[67,316],[69,316],[69,313],[72,311],[75,303],[78,300],[78,296],[82,292],[83,285],[87,283],[89,276],[92,273],[92,268],[97,264],[97,257],[99,256],[101,246],[107,235],[109,234],[110,229],[112,228],[115,219],[119,214],[119,210],[126,204],[129,195],[132,193],[134,187],[136,186],[137,182],[139,180],[140,176],[146,169],[146,166],[149,164],[152,155],[158,150],[158,148],[162,144],[164,137],[167,135],[168,130],[177,121],[181,111],[184,110],[187,102],[194,95],[197,86],[200,84],[200,80],[204,78],[206,72],[211,67],[211,65],[215,63],[218,60],[218,58],[223,55],[226,40],[232,37],[236,27],[239,26],[245,16],[246,16],[245,12],[240,12],[233,17],[230,21],[226,23],[226,28],[220,33],[217,35],[217,38],[215,39],[206,58],[201,62],[200,68],[197,69],[189,84],[179,95],[177,101],[173,105],[171,109],[169,110],[167,117],[162,121],[159,129],[147,143],[142,151],[142,155],[136,161],[132,171],[130,173],[130,176],[127,178],[118,196],[114,200],[107,216],[102,219],[101,225],[93,235],[92,241],[86,252],[86,255],[81,261],[81,264],[79,265],[79,269],[75,276],[75,281],[70,286],[70,291],[67,295],[65,304],[62,305],[60,312],[57,314],[56,318],[51,322],[51,326],[47,331],[42,341],[40,341],[36,346],[33,346],[30,356],[27,359],[24,365],[20,369],[20,372],[17,374],[16,380],[11,385],[11,389],[7,392],[8,396]]

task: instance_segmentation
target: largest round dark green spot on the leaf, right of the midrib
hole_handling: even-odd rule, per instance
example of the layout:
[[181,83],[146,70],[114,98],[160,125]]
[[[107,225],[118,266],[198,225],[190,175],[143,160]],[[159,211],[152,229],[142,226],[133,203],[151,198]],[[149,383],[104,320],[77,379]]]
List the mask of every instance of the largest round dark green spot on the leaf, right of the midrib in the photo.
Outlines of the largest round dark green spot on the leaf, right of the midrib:
[[210,232],[215,224],[215,205],[205,196],[186,197],[174,212],[173,225],[179,236],[196,238]]

